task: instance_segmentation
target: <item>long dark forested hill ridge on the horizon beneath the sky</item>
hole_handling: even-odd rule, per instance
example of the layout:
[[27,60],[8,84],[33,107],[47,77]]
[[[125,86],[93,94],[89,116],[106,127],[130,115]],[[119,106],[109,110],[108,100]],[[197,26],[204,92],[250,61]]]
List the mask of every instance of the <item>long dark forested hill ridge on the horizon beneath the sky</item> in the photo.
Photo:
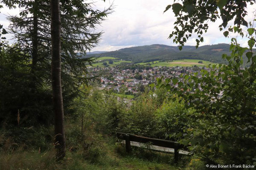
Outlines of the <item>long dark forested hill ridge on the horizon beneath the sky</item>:
[[229,44],[216,44],[195,46],[183,46],[180,51],[177,46],[169,45],[144,45],[130,48],[122,48],[101,54],[91,54],[90,57],[109,56],[136,62],[150,62],[167,59],[202,59],[210,62],[222,62],[221,55],[229,54]]

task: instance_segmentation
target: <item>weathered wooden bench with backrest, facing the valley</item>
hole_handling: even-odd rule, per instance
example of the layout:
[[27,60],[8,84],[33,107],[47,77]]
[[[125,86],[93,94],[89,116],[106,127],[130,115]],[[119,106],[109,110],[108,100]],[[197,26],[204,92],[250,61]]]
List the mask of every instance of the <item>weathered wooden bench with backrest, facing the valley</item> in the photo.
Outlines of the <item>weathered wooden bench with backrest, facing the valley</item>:
[[[174,153],[174,160],[175,163],[177,163],[179,154],[190,156],[191,153],[187,152],[185,150],[188,150],[187,147],[183,146],[182,144],[179,144],[178,142],[169,141],[169,140],[163,140],[163,139],[154,139],[154,138],[148,138],[144,136],[137,136],[130,133],[121,133],[117,132],[116,136],[118,139],[123,140],[123,143],[125,143],[125,149],[126,152],[131,151],[131,146],[141,147],[141,143],[150,143],[152,144],[152,149],[160,152],[166,152],[166,153]],[[172,149],[169,149],[172,148]]]

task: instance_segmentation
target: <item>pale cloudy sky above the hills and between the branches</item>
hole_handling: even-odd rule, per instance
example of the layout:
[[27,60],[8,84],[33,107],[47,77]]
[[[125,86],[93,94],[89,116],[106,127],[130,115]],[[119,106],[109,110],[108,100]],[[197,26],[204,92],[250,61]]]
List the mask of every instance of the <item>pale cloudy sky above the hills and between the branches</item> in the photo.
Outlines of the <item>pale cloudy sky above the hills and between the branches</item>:
[[[104,32],[101,41],[91,51],[114,51],[120,48],[151,44],[177,45],[173,43],[172,39],[168,39],[169,34],[173,31],[175,15],[172,10],[163,13],[166,6],[172,4],[173,0],[106,0],[105,2],[94,0],[92,7],[103,10],[112,3],[113,13],[108,15],[106,20],[102,21],[102,24],[95,30]],[[247,5],[246,20],[253,20],[253,11],[255,10],[255,4]],[[19,14],[18,9],[2,8],[0,11],[0,24],[3,24],[4,28],[9,25],[6,15]],[[209,23],[209,30],[203,35],[204,42],[200,46],[230,43],[230,38],[236,37],[236,34],[232,34],[229,38],[225,38],[223,31],[219,31],[220,24],[220,19],[215,23]],[[246,28],[244,29],[246,30]],[[6,37],[10,39],[11,36],[9,34]],[[193,34],[185,45],[195,45],[196,37]],[[239,43],[242,46],[247,46],[247,39],[239,38]]]

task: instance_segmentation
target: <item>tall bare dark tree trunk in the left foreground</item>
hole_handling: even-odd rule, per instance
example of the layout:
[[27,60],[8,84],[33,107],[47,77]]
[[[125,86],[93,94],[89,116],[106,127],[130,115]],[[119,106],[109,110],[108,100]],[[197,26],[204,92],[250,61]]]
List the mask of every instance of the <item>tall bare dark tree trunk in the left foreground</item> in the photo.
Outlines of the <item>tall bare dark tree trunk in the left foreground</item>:
[[61,90],[61,16],[60,0],[51,0],[52,99],[57,159],[65,157],[64,109]]

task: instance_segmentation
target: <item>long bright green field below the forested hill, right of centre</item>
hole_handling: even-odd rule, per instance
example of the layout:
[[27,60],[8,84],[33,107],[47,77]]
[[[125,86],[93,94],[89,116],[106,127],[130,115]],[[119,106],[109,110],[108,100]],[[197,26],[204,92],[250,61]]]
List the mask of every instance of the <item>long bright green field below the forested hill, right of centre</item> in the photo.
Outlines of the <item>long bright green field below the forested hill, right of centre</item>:
[[[202,61],[203,64],[199,64],[198,62]],[[140,62],[138,64],[140,65],[147,65],[148,62],[144,63],[144,62]],[[172,62],[160,62],[160,60],[158,61],[154,61],[154,62],[149,62],[151,64],[152,67],[154,66],[166,66],[166,67],[174,67],[174,66],[181,66],[181,67],[192,67],[194,65],[197,65],[199,67],[202,66],[207,66],[209,64],[215,64],[213,62],[209,62],[209,61],[204,61],[204,60],[200,60],[200,59],[183,59],[183,60],[173,60]]]

